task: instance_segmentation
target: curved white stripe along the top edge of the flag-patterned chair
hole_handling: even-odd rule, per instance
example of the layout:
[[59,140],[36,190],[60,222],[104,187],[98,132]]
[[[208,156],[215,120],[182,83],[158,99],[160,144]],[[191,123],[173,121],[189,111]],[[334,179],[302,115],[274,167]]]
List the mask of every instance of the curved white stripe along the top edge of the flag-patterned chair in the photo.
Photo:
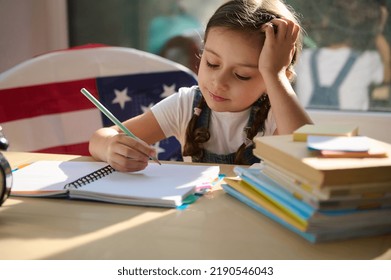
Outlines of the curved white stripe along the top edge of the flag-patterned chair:
[[124,47],[84,48],[51,52],[22,62],[0,73],[0,89],[178,70],[197,79],[183,65],[155,54]]

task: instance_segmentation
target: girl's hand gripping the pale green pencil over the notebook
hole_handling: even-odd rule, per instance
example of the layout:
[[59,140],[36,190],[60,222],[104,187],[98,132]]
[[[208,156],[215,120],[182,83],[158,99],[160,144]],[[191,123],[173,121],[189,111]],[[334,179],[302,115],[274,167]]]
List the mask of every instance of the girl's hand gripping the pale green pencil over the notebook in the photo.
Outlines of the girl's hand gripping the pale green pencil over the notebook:
[[133,172],[143,170],[148,165],[149,156],[156,151],[147,143],[119,133],[108,139],[106,161],[115,170]]

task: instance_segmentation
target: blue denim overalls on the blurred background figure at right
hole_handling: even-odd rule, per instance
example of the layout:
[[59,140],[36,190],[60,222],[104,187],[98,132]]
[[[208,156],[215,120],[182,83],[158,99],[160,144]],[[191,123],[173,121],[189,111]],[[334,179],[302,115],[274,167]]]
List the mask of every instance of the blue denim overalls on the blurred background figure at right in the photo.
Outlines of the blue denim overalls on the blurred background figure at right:
[[338,109],[339,108],[339,97],[338,92],[342,82],[345,80],[354,62],[357,59],[357,53],[350,52],[348,59],[339,71],[337,78],[334,83],[327,87],[321,86],[319,83],[319,72],[318,72],[318,55],[319,50],[312,53],[311,63],[311,77],[314,84],[312,91],[309,108],[324,108],[324,109]]

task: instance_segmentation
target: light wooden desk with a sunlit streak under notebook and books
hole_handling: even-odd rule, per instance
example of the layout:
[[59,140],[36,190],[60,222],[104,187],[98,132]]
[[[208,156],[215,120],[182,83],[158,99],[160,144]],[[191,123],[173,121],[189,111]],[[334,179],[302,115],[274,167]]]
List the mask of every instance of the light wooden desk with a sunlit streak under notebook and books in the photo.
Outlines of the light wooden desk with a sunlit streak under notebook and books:
[[[12,167],[70,155],[4,152]],[[222,172],[232,175],[232,166]],[[0,207],[0,259],[373,259],[391,235],[310,244],[217,189],[185,210],[48,198]]]

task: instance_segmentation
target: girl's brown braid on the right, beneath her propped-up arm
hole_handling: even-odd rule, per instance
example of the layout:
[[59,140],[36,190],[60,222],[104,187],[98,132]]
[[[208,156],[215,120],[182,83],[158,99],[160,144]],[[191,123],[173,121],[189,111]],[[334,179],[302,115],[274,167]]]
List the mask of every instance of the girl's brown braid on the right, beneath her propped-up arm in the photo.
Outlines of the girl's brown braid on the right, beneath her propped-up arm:
[[246,148],[253,144],[253,139],[259,131],[265,133],[265,121],[271,107],[268,95],[263,94],[254,105],[252,126],[245,128],[245,140],[236,151],[235,164],[248,164],[248,162],[245,162],[244,156]]

